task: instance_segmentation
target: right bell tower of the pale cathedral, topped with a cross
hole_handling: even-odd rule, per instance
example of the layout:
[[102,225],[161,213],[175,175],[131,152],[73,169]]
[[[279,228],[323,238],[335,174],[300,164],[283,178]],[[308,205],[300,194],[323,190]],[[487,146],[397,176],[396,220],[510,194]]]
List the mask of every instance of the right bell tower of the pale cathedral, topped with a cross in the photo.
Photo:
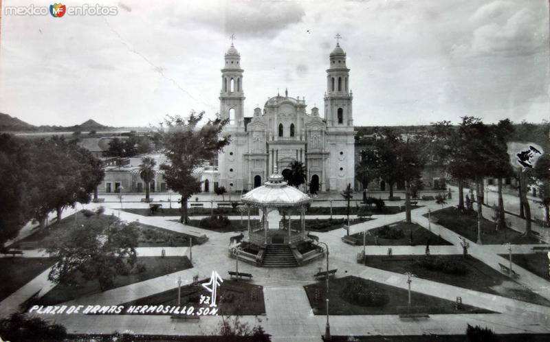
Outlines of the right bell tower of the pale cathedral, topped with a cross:
[[325,119],[328,128],[352,128],[353,95],[349,90],[349,69],[346,67],[346,53],[340,47],[342,36],[336,34],[337,43],[329,56],[327,69],[327,92],[325,93]]

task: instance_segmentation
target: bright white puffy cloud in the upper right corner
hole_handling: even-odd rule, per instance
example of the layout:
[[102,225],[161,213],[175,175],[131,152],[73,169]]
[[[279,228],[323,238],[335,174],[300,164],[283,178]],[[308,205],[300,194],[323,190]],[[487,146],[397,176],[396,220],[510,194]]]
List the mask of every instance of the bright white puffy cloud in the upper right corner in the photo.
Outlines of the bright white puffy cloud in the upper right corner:
[[[507,18],[498,23],[499,18]],[[474,29],[469,43],[452,46],[455,57],[525,56],[539,52],[547,41],[547,19],[528,8],[515,10],[512,5],[495,1],[478,8],[471,16]],[[493,20],[493,21],[492,21]],[[475,26],[474,26],[475,27]]]

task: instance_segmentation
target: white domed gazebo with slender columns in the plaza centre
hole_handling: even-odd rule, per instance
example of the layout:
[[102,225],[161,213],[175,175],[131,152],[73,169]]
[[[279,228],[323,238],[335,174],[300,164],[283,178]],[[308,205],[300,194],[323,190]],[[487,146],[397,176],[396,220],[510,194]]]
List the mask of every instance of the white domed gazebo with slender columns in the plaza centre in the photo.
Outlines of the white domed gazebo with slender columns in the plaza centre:
[[[266,247],[272,244],[296,245],[307,240],[305,232],[306,206],[311,203],[311,198],[296,187],[289,186],[275,172],[269,176],[265,185],[243,194],[241,201],[248,207],[248,242],[258,247]],[[250,207],[260,209],[260,223],[250,224]],[[287,222],[281,220],[287,216]],[[292,222],[292,214],[300,214],[300,220]]]

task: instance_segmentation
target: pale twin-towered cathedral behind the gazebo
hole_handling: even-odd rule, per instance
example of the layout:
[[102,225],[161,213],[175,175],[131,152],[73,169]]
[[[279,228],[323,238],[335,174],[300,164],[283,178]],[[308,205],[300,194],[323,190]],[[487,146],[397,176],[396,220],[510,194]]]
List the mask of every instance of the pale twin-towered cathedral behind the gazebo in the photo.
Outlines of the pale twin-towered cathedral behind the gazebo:
[[263,109],[254,109],[252,117],[245,117],[244,70],[241,55],[231,45],[221,69],[219,114],[229,119],[223,134],[232,141],[219,153],[217,168],[202,170],[203,191],[212,192],[216,186],[252,190],[263,185],[275,169],[285,176],[293,161],[303,162],[307,169],[307,190],[342,191],[348,183],[353,187],[353,94],[340,43],[328,62],[322,115],[316,107],[307,113],[305,99],[291,98],[285,91],[284,96],[269,98]]

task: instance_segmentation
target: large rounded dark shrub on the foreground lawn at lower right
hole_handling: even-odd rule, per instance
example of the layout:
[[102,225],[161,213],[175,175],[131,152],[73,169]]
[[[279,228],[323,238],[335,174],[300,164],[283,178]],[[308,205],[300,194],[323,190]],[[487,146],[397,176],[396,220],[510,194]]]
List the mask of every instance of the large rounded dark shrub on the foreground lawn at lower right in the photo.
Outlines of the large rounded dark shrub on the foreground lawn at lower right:
[[375,284],[352,278],[340,292],[340,297],[360,306],[384,306],[390,301],[385,290]]

